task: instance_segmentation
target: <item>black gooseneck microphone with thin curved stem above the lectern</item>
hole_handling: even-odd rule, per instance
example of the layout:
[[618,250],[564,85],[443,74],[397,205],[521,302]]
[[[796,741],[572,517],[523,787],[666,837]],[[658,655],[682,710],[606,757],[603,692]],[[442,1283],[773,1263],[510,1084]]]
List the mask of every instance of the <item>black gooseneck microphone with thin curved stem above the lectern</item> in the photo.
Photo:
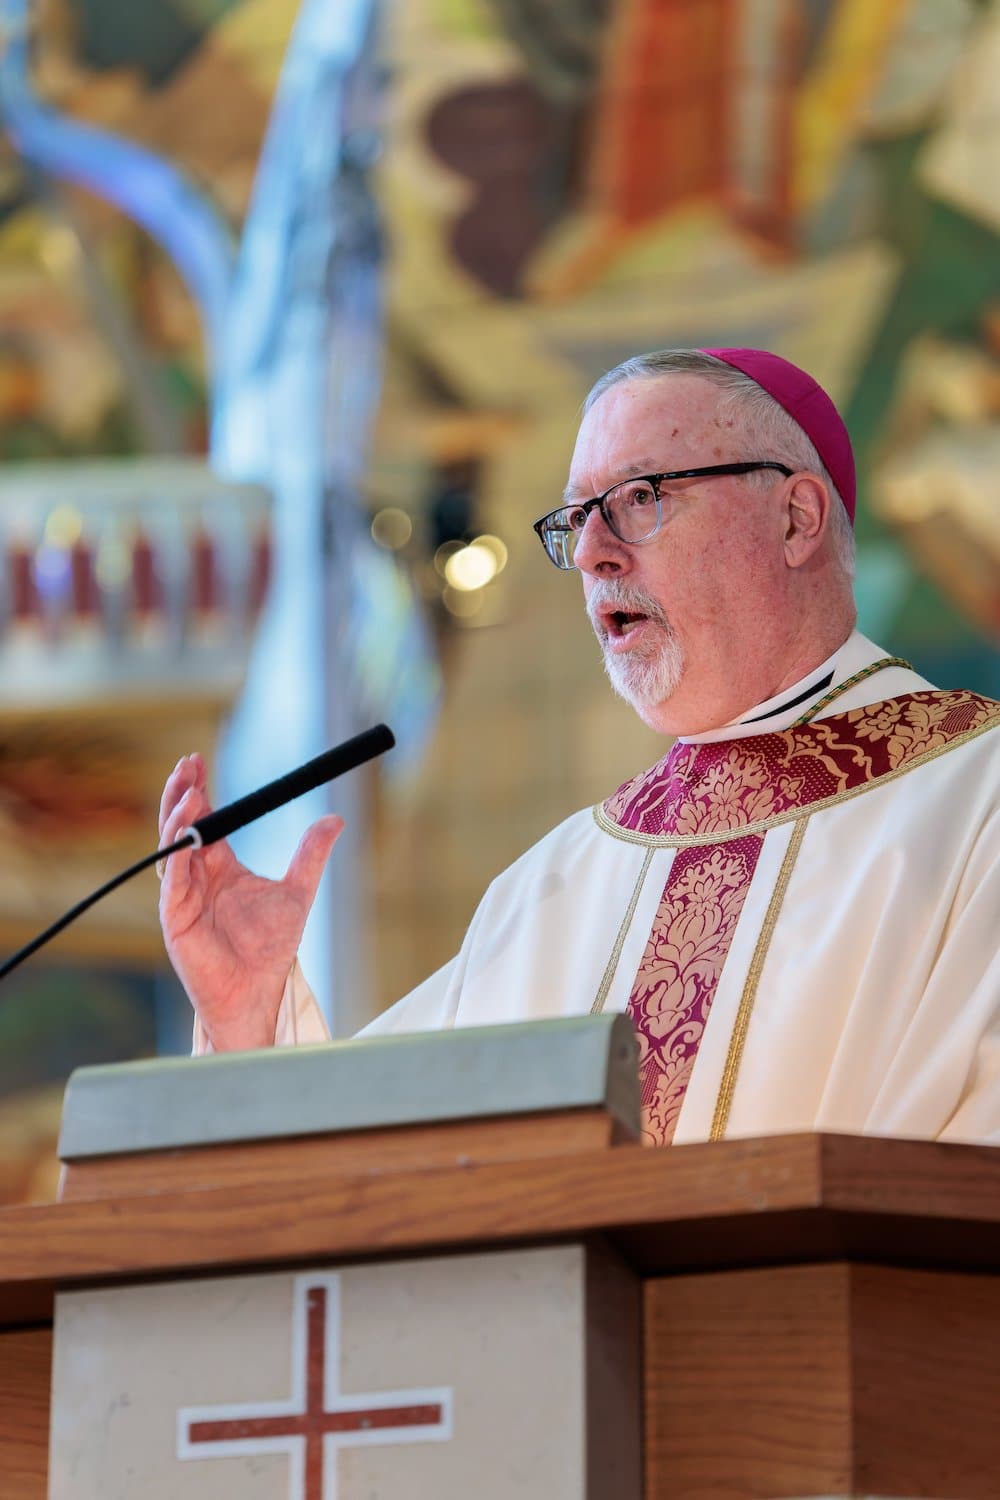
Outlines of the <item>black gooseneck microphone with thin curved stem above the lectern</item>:
[[10,954],[6,963],[0,964],[0,980],[6,978],[18,964],[30,958],[33,952],[37,952],[39,948],[69,927],[70,922],[76,921],[78,916],[82,916],[85,910],[90,910],[96,902],[109,896],[111,891],[117,891],[133,874],[148,870],[157,860],[166,860],[169,855],[177,854],[178,849],[202,849],[207,844],[217,843],[219,838],[226,838],[238,828],[246,828],[247,824],[253,824],[258,818],[264,818],[265,813],[273,813],[277,807],[283,807],[285,802],[303,796],[304,792],[312,792],[325,782],[333,782],[334,777],[343,776],[346,771],[354,771],[357,766],[364,765],[366,760],[375,759],[376,754],[391,750],[394,744],[396,736],[388,724],[375,724],[372,729],[354,735],[352,740],[345,740],[343,744],[334,746],[333,750],[324,750],[315,759],[306,760],[298,770],[289,771],[286,776],[279,776],[276,782],[268,782],[267,786],[261,786],[256,792],[249,792],[246,796],[237,798],[235,802],[228,802],[226,807],[205,813],[190,828],[184,828],[175,843],[168,844],[165,849],[154,849],[153,854],[138,860],[127,870],[121,870],[120,874],[112,876],[111,880],[106,880],[99,890],[91,891],[76,906],[63,912],[51,927],[46,927],[43,933],[33,938],[24,948],[18,948],[16,952]]

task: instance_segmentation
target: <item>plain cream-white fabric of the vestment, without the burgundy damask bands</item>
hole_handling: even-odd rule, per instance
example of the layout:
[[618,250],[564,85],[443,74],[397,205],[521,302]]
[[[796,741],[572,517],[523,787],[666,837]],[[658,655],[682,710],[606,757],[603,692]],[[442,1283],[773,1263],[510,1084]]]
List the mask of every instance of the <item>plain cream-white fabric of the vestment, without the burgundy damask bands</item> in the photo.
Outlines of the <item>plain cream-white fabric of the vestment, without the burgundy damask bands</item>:
[[[829,663],[834,687],[882,656],[855,633]],[[808,728],[928,688],[888,668]],[[762,720],[769,705],[759,705],[685,742],[732,742],[739,758],[741,740],[786,730],[804,706],[796,698]],[[1000,734],[984,729],[807,818],[757,820],[675,1142],[817,1130],[1000,1143]],[[616,828],[612,802],[568,818],[505,870],[459,954],[361,1035],[624,1011],[673,861],[706,836]],[[696,968],[673,950],[670,963]],[[325,1036],[295,968],[276,1041]]]

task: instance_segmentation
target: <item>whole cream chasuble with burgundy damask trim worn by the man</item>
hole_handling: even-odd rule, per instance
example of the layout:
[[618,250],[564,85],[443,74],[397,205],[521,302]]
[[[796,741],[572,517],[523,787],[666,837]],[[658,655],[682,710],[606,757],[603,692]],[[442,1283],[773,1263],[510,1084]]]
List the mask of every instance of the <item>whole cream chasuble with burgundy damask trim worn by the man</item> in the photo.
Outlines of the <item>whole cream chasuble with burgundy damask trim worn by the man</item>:
[[[1000,705],[858,633],[828,666],[555,828],[361,1035],[622,1010],[649,1144],[1000,1143]],[[295,966],[276,1042],[325,1035]]]

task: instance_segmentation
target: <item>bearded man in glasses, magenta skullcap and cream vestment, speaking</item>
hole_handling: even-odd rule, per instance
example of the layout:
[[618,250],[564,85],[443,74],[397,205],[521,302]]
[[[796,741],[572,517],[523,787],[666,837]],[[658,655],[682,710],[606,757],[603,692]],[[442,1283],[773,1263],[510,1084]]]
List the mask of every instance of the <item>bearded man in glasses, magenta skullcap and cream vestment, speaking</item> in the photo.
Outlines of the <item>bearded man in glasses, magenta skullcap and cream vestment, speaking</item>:
[[[370,1030],[628,1010],[649,1143],[1000,1142],[1000,705],[853,630],[853,510],[847,430],[786,360],[664,351],[598,381],[535,530],[583,578],[612,684],[676,742],[499,876]],[[192,756],[163,842],[205,810]],[[199,1050],[325,1035],[294,954],[339,826],[276,884],[225,846],[169,862]]]

